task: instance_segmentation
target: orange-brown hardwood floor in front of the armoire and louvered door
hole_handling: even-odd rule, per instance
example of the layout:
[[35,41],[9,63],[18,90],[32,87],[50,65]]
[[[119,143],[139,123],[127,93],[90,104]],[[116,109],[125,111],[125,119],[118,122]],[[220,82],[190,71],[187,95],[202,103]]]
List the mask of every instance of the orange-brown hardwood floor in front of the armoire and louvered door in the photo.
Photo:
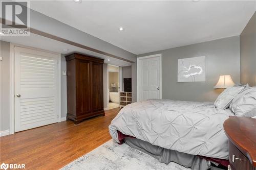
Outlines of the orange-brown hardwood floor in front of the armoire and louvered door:
[[120,108],[105,116],[70,120],[0,138],[0,163],[25,163],[26,169],[59,169],[111,139],[109,125]]

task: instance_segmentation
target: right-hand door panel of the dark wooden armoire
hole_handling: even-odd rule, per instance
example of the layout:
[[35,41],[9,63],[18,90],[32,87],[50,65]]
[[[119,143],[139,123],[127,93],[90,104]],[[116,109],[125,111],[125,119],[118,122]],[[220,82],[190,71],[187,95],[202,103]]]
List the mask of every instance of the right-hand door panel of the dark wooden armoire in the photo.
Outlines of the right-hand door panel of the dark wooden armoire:
[[103,110],[103,65],[92,62],[92,111]]

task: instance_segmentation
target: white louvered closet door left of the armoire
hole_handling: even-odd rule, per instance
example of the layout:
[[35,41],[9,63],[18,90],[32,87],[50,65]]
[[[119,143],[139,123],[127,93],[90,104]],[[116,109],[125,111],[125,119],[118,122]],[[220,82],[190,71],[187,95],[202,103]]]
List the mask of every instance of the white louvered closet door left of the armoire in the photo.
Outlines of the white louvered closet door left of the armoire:
[[58,56],[15,46],[15,132],[58,122]]

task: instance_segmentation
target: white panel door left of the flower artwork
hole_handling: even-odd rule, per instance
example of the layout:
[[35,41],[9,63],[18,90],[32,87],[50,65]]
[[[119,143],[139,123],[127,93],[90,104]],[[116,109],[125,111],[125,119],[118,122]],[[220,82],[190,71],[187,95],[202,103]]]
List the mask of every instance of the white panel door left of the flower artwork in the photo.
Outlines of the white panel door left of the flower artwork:
[[161,98],[161,55],[138,58],[138,102]]

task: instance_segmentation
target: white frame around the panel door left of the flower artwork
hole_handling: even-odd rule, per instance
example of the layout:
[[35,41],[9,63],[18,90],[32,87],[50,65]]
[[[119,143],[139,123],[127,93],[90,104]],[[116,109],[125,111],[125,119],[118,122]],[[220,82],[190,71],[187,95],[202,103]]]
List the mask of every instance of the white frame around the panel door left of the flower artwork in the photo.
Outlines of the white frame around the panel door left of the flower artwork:
[[140,65],[139,65],[139,61],[140,60],[143,60],[143,59],[148,59],[148,58],[156,58],[158,57],[159,58],[159,78],[160,78],[160,81],[159,81],[159,87],[160,87],[160,91],[159,91],[159,98],[162,99],[162,54],[154,54],[154,55],[150,55],[150,56],[143,56],[143,57],[138,57],[137,58],[137,102],[140,101],[140,81],[139,81],[139,78],[141,77],[141,72],[140,72]]

